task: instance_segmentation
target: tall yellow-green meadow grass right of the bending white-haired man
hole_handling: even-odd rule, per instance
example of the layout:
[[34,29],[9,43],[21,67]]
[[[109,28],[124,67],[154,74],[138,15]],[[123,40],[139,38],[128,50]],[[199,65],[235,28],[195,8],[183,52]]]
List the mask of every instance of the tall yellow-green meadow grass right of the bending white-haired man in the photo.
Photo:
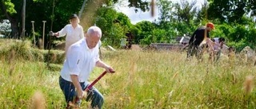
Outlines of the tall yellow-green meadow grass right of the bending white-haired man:
[[226,57],[210,64],[206,56],[200,63],[178,52],[119,51],[107,56],[118,72],[102,87],[109,95],[106,108],[255,107],[253,80],[250,97],[243,90],[246,76],[254,76],[254,66],[231,67]]

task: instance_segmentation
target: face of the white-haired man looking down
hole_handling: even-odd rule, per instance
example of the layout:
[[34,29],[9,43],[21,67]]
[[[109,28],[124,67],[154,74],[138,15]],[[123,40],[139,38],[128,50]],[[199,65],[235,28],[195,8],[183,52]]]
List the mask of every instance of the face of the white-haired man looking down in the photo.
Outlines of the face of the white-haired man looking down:
[[86,43],[89,49],[94,49],[98,45],[99,37],[97,33],[91,34],[91,36],[86,37]]

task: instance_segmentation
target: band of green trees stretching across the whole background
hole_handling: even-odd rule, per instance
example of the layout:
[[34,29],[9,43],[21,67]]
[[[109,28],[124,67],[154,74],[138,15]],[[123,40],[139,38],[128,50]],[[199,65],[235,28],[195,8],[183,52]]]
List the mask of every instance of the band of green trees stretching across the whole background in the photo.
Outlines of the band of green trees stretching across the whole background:
[[[125,14],[114,10],[114,3],[120,1],[122,0],[87,0],[85,13],[82,14],[80,24],[85,30],[94,24],[102,28],[102,41],[106,42],[106,45],[118,47],[120,40],[126,38],[127,34],[133,37],[134,44],[170,43],[175,37],[183,34],[190,36],[196,28],[205,25],[207,21],[213,21],[216,26],[210,36],[226,37],[228,45],[241,48],[245,45],[254,48],[256,45],[256,25],[253,21],[256,4],[252,0],[208,0],[209,2],[202,4],[201,9],[195,6],[195,1],[174,3],[159,0],[158,21],[141,21],[136,25],[132,25]],[[46,33],[62,29],[69,23],[70,14],[78,14],[82,3],[83,0],[26,0],[26,36],[32,36],[31,21],[34,21],[34,30],[38,38],[42,37],[42,21],[46,21]],[[18,38],[22,24],[22,1],[2,0],[0,6],[0,18],[10,20],[11,36]],[[150,9],[150,1],[128,0],[128,6],[134,7],[134,11],[146,11]]]

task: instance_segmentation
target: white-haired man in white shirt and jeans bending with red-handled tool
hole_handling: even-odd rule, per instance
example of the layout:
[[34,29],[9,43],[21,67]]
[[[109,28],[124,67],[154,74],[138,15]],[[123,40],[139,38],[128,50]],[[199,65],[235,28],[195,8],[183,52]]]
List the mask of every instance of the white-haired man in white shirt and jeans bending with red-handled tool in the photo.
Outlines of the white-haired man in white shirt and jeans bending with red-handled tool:
[[[62,89],[66,103],[73,102],[74,97],[79,99],[85,97],[84,90],[89,85],[87,81],[93,68],[105,68],[106,72],[114,71],[109,65],[99,59],[98,42],[102,37],[102,31],[97,26],[91,26],[87,30],[87,36],[70,46],[66,53],[66,60],[60,73],[59,85]],[[102,108],[103,96],[96,89],[90,89],[91,107]],[[87,96],[88,97],[88,96]],[[88,98],[86,98],[88,99]],[[78,101],[78,105],[80,100]]]

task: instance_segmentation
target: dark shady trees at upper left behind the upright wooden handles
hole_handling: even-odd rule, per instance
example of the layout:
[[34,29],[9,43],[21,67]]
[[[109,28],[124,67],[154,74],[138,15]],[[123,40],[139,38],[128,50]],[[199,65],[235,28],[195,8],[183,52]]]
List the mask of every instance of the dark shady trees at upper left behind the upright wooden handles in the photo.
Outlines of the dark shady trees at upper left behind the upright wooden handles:
[[[55,1],[54,16],[52,16],[52,6]],[[11,22],[12,37],[19,37],[22,24],[22,1],[2,0],[0,6],[2,13]],[[68,23],[70,14],[79,11],[78,6],[82,6],[82,1],[68,0],[26,0],[26,34],[31,33],[31,22],[34,21],[35,31],[42,33],[42,21],[46,21],[46,31],[50,30],[50,21],[54,20],[54,30],[61,29]]]

